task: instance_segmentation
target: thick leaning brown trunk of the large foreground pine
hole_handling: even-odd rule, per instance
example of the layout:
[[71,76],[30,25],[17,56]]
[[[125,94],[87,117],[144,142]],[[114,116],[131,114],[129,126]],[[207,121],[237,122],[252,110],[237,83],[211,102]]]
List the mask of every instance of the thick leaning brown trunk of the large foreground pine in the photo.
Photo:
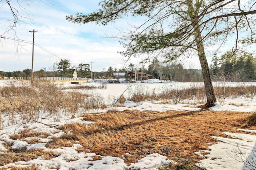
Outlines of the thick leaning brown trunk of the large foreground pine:
[[198,11],[200,6],[196,6],[195,7],[196,9],[194,9],[192,0],[187,0],[187,5],[188,5],[188,14],[190,16],[191,23],[194,29],[194,37],[196,41],[198,57],[199,57],[201,68],[202,68],[204,88],[205,88],[206,98],[207,98],[206,107],[211,107],[211,106],[214,106],[214,103],[216,102],[216,98],[214,95],[212,80],[210,77],[209,66],[204,53],[204,44],[202,42],[202,35],[201,35],[200,27],[198,25]]

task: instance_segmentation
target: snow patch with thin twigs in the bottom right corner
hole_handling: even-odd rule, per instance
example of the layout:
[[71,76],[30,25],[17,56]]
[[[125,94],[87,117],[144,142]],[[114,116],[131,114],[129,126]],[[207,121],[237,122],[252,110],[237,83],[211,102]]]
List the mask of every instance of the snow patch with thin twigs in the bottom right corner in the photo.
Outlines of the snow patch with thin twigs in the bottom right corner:
[[[244,131],[243,129],[240,129]],[[256,133],[254,130],[247,131]],[[256,135],[243,133],[223,132],[225,135],[232,137],[223,138],[212,136],[212,138],[222,141],[208,146],[210,150],[201,150],[209,152],[202,155],[204,160],[200,160],[197,166],[211,170],[255,170],[256,169]]]

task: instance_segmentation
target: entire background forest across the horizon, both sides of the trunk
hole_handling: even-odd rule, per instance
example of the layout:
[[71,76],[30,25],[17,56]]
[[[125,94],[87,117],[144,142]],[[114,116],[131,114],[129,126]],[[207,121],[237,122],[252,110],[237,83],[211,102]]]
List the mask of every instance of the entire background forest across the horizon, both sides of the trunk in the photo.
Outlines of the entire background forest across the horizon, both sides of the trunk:
[[[235,52],[233,52],[235,51]],[[92,78],[108,78],[114,72],[138,71],[151,74],[157,79],[178,82],[202,82],[201,70],[194,69],[190,64],[190,68],[184,68],[181,60],[159,61],[157,58],[152,60],[145,67],[144,62],[140,62],[139,66],[129,63],[126,68],[108,67],[106,71],[92,71]],[[72,66],[69,60],[60,60],[59,63],[52,64],[52,67],[40,69],[34,72],[34,76],[38,77],[72,77],[74,70],[77,70],[78,77],[90,78],[90,64],[80,63],[78,66]],[[1,77],[29,77],[31,69],[17,70],[13,72],[0,71]],[[256,58],[254,54],[246,51],[231,49],[220,57],[214,53],[212,64],[210,65],[210,75],[213,81],[253,81],[256,80]]]

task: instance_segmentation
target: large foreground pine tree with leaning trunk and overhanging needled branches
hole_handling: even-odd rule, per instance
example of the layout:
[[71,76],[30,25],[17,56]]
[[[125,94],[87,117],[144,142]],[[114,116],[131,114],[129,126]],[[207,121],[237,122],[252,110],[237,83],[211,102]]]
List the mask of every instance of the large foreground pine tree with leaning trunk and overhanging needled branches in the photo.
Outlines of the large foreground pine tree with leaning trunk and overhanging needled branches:
[[195,50],[202,68],[208,107],[214,106],[216,98],[204,43],[225,40],[238,30],[254,35],[250,31],[254,20],[248,20],[249,15],[256,13],[255,4],[251,1],[244,2],[243,9],[239,0],[102,0],[99,5],[101,8],[96,12],[66,16],[66,20],[107,25],[128,14],[147,17],[135,31],[128,31],[128,35],[122,37],[126,49],[122,54],[131,57],[142,53],[154,56],[157,53],[172,60]]

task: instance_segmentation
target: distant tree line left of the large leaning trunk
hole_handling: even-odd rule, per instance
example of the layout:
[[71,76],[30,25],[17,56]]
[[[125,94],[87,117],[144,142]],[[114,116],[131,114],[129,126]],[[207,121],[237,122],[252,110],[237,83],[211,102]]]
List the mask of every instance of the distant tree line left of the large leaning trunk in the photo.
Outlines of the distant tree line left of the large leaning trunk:
[[[90,64],[80,63],[78,66],[72,66],[69,60],[60,60],[59,63],[54,63],[49,70],[46,68],[34,71],[36,77],[72,77],[74,70],[77,70],[78,77],[90,78]],[[180,81],[180,82],[201,82],[202,74],[198,69],[185,69],[184,65],[178,61],[170,61],[163,63],[154,59],[145,68],[144,63],[140,63],[140,66],[135,66],[133,63],[129,63],[126,68],[113,68],[108,67],[105,72],[92,72],[92,78],[109,78],[114,72],[127,73],[129,71],[145,72],[151,74],[153,77],[166,81]],[[13,72],[0,71],[1,77],[30,77],[31,69],[17,70]]]

